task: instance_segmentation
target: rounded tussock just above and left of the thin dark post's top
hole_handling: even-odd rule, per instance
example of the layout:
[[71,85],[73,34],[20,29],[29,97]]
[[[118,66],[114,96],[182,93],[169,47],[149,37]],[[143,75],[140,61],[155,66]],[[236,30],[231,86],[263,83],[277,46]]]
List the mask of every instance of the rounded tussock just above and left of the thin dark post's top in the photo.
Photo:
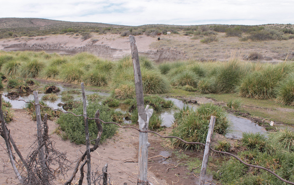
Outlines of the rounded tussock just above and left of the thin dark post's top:
[[84,70],[78,65],[63,65],[61,71],[61,79],[68,83],[78,83],[84,75]]

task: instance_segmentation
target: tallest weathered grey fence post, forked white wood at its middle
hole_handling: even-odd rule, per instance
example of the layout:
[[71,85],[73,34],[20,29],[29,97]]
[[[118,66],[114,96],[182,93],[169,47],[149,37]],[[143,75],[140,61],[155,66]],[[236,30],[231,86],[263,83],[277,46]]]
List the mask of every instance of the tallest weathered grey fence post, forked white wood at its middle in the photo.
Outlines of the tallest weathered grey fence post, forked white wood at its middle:
[[[133,59],[133,68],[134,68],[134,78],[135,78],[135,89],[136,89],[136,100],[137,100],[137,109],[139,115],[139,129],[141,131],[148,130],[149,119],[152,116],[153,109],[149,109],[149,105],[144,108],[144,96],[143,96],[143,84],[142,84],[142,75],[140,69],[138,49],[136,46],[135,37],[133,35],[129,36],[131,44],[131,52]],[[150,143],[148,142],[148,133],[140,132],[139,133],[139,180],[137,184],[147,185],[147,164],[148,164],[148,147]]]

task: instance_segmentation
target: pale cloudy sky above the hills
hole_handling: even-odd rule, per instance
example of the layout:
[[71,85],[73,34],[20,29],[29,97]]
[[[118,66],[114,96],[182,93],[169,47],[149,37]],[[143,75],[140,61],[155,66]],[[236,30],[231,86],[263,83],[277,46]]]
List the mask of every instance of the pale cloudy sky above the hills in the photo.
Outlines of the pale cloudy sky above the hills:
[[294,0],[1,0],[0,17],[129,26],[294,24]]

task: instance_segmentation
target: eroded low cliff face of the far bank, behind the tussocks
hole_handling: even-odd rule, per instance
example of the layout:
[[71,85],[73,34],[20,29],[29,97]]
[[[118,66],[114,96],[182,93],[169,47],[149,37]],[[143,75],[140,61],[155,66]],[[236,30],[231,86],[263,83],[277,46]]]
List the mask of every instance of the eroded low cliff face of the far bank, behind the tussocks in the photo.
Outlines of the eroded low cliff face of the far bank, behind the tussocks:
[[[80,52],[88,52],[101,58],[117,60],[122,58],[126,54],[131,54],[130,49],[116,49],[102,44],[86,44],[84,46],[74,47],[67,46],[66,44],[49,44],[49,43],[18,43],[5,46],[3,51],[46,51],[48,53],[59,54],[77,54]],[[161,62],[161,61],[176,61],[187,59],[184,52],[172,50],[172,49],[158,49],[149,50],[146,52],[139,52],[140,55],[145,55],[149,59]]]

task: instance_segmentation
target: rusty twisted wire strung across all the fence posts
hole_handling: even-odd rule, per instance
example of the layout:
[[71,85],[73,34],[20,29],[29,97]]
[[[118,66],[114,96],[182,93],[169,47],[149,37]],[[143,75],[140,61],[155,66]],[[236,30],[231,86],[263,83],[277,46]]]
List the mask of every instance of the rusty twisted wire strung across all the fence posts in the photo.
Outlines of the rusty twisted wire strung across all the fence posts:
[[[6,96],[6,95],[4,95],[4,94],[0,94],[0,95],[5,96],[5,97],[8,97],[9,99],[14,99],[14,100],[17,100],[17,101],[24,101],[25,103],[32,103],[34,106],[36,106],[36,105],[40,105],[39,103],[33,103],[33,102],[30,102],[30,101],[25,101],[25,100],[23,100],[23,99],[12,98],[12,97],[10,97],[10,96]],[[73,113],[73,112],[68,112],[68,111],[65,111],[65,112],[64,112],[64,111],[62,111],[62,110],[60,110],[60,109],[52,109],[50,106],[42,106],[42,105],[40,105],[40,106],[41,106],[42,108],[49,108],[49,109],[51,109],[51,110],[53,110],[53,111],[61,111],[62,113],[65,113],[65,114],[66,114],[66,113],[71,113],[71,114],[73,114],[73,115],[76,116],[76,117],[84,116],[84,115],[76,115],[76,114]],[[101,120],[101,119],[99,119],[99,118],[89,118],[89,117],[87,117],[87,119],[88,119],[88,120],[99,120],[99,121],[101,121],[101,122],[104,123],[104,124],[116,124],[116,125],[119,126],[120,128],[133,128],[133,129],[135,129],[135,130],[137,130],[137,131],[139,131],[139,132],[143,132],[143,133],[153,133],[153,134],[158,135],[158,136],[161,137],[161,138],[175,138],[175,139],[178,139],[178,140],[180,140],[180,141],[182,141],[182,142],[184,142],[184,143],[186,143],[186,144],[191,144],[191,145],[202,145],[202,146],[205,146],[205,144],[203,144],[203,143],[199,143],[199,142],[187,142],[187,141],[184,141],[183,139],[178,138],[178,137],[175,137],[175,136],[163,136],[163,135],[161,135],[161,134],[159,134],[159,133],[157,133],[157,132],[155,132],[155,131],[141,131],[139,128],[136,128],[136,127],[133,127],[133,126],[121,126],[120,124],[115,123],[115,122],[104,122],[103,120]],[[212,150],[213,152],[216,152],[216,153],[221,153],[221,154],[230,155],[230,156],[236,158],[238,161],[240,161],[241,163],[243,163],[243,164],[246,165],[246,166],[250,166],[250,167],[254,167],[254,168],[259,168],[259,169],[266,170],[266,171],[268,171],[269,173],[271,173],[271,174],[273,174],[274,176],[276,176],[278,179],[282,180],[283,182],[294,185],[294,182],[290,182],[290,181],[288,181],[288,180],[283,179],[282,177],[280,177],[279,175],[277,175],[275,172],[271,171],[270,169],[264,168],[264,167],[262,167],[262,166],[256,166],[256,165],[248,164],[248,163],[244,162],[242,159],[240,159],[239,157],[237,157],[237,156],[234,155],[234,154],[231,154],[231,153],[229,153],[229,152],[217,151],[217,150],[215,150],[215,149],[213,149],[213,148],[211,148],[211,147],[210,147],[210,150]],[[96,159],[97,159],[97,158],[96,158]],[[133,178],[135,178],[135,177],[133,177]],[[135,178],[135,179],[136,179],[136,178]],[[148,183],[148,182],[146,182],[146,183]]]

